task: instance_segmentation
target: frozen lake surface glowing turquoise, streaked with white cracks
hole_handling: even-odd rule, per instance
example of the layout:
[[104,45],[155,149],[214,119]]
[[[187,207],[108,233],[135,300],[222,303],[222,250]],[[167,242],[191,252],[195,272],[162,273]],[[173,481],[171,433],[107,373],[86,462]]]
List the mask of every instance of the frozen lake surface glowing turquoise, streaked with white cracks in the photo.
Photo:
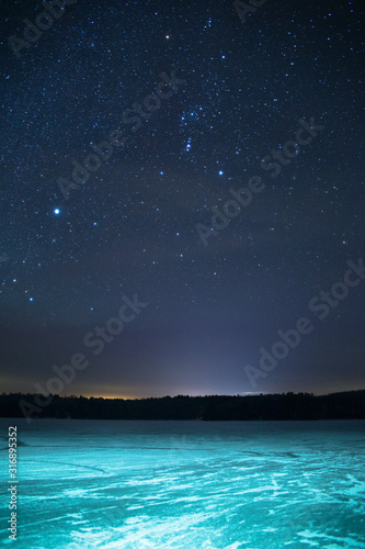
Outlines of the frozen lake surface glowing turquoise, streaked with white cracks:
[[[365,548],[365,422],[0,418],[26,549]],[[9,492],[8,492],[9,494]]]

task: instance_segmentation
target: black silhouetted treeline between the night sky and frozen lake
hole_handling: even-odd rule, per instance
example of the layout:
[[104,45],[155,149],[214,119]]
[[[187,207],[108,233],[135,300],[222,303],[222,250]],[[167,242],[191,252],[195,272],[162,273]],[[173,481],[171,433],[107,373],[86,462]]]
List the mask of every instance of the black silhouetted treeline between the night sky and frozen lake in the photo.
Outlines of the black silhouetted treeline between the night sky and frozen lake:
[[0,395],[0,417],[72,419],[365,419],[365,390],[315,396],[309,393],[254,396],[163,396],[101,399],[12,393]]

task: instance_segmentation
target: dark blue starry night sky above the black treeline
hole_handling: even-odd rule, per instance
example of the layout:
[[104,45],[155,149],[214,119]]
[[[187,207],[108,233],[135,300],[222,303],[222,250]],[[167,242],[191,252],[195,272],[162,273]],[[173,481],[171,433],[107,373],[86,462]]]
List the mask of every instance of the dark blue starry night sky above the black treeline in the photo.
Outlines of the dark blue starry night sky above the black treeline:
[[[78,1],[30,47],[42,3],[0,10],[1,390],[35,392],[76,352],[89,365],[62,394],[364,389],[365,281],[326,318],[308,306],[364,251],[361,2],[267,0],[243,16],[232,1]],[[148,111],[161,74],[179,85]],[[321,130],[294,149],[311,119]],[[76,186],[115,131],[124,144]],[[290,141],[280,170],[263,166]],[[212,209],[253,177],[262,191],[214,228]],[[139,314],[87,348],[135,294]],[[301,317],[312,332],[252,383],[246,367]]]

